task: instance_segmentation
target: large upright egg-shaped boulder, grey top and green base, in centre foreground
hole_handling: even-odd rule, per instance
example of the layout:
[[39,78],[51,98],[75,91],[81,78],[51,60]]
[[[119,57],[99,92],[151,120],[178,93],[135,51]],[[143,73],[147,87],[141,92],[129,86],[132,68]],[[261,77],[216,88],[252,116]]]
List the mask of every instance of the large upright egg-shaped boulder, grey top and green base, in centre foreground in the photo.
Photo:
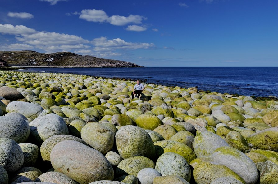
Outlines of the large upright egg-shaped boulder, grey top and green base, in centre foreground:
[[155,148],[150,135],[138,126],[122,126],[116,133],[117,149],[124,159],[134,156],[153,158]]

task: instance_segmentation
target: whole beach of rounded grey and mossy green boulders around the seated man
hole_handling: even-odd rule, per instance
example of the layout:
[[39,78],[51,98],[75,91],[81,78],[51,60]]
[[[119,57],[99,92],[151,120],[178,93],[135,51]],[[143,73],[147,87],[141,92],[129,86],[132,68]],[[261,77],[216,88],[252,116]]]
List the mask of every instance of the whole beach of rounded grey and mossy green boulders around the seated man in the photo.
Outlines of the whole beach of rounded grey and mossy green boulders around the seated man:
[[0,183],[278,183],[278,99],[0,73]]

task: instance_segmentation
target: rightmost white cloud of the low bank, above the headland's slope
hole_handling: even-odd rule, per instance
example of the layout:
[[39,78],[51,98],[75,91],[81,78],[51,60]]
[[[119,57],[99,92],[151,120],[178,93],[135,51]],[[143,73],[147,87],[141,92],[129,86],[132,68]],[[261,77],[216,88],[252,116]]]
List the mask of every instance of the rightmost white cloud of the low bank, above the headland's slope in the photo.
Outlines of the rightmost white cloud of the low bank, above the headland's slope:
[[153,43],[132,43],[126,42],[120,38],[107,40],[106,37],[96,38],[92,41],[92,44],[97,48],[111,48],[111,49],[151,49],[155,45]]

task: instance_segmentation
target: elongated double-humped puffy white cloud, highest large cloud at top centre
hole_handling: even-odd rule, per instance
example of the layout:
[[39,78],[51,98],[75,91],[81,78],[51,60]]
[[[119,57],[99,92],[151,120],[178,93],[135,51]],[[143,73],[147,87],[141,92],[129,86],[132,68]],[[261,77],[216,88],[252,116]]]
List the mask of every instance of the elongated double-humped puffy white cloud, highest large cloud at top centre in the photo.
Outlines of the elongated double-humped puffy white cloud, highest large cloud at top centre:
[[95,10],[95,9],[82,10],[79,18],[89,22],[108,22],[116,26],[124,26],[130,23],[141,24],[142,20],[147,19],[140,15],[129,15],[128,17],[120,16],[120,15],[112,15],[111,17],[109,17],[105,11]]

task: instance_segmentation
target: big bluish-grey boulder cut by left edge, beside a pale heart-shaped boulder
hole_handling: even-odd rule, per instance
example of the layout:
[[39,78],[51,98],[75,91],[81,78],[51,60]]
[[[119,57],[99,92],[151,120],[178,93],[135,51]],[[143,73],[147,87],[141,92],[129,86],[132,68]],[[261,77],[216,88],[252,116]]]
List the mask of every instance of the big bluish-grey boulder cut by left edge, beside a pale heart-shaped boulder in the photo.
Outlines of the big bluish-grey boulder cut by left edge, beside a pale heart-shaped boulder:
[[0,137],[13,139],[17,143],[24,143],[30,134],[28,122],[18,116],[0,117],[0,127]]

